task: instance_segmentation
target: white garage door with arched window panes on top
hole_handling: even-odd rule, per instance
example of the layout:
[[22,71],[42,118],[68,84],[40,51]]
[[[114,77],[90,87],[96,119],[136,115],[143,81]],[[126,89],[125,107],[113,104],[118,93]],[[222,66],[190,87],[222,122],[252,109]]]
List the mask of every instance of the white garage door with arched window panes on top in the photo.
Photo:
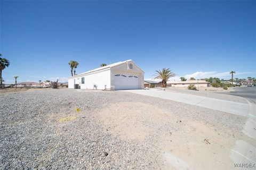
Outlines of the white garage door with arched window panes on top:
[[115,74],[115,90],[139,89],[139,77],[133,74]]

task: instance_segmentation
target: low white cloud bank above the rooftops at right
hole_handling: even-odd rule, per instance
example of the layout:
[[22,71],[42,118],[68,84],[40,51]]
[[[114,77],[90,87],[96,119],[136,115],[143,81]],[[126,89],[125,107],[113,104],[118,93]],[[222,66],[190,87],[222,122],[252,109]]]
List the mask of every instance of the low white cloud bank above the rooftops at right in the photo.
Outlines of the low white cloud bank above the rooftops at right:
[[[237,72],[235,75],[242,75],[242,74],[248,74],[252,72]],[[204,78],[210,78],[210,77],[217,77],[217,78],[226,78],[230,77],[229,71],[228,72],[217,72],[217,71],[210,71],[210,72],[202,72],[197,71],[192,74],[187,74],[184,76],[185,78],[196,78],[196,79],[204,79]]]

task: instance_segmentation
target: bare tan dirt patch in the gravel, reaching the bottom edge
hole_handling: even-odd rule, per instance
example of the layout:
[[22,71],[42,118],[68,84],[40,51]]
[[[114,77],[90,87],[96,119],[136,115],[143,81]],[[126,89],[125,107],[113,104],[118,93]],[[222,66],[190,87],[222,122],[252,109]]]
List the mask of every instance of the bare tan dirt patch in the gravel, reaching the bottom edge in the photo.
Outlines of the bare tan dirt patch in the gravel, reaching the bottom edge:
[[[123,140],[152,141],[162,153],[163,169],[230,169],[230,149],[241,133],[215,130],[145,103],[115,103],[101,110],[100,124]],[[201,115],[204,116],[204,115]],[[151,138],[151,139],[150,139]],[[207,141],[210,143],[208,143]]]

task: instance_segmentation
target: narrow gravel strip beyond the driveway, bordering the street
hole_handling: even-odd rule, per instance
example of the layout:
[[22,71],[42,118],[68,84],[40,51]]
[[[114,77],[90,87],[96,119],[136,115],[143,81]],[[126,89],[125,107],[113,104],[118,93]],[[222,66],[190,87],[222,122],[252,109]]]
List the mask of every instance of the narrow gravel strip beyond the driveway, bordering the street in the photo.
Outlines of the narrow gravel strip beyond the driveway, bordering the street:
[[[203,87],[202,87],[203,88]],[[227,94],[220,94],[221,92],[212,92],[212,91],[197,91],[197,90],[188,90],[188,89],[182,89],[182,88],[166,88],[166,90],[171,90],[173,92],[180,92],[183,94],[190,94],[190,95],[196,95],[196,96],[204,96],[204,97],[210,97],[215,99],[222,99],[222,100],[229,100],[229,101],[235,101],[238,103],[246,103],[247,101],[239,96],[231,96]]]

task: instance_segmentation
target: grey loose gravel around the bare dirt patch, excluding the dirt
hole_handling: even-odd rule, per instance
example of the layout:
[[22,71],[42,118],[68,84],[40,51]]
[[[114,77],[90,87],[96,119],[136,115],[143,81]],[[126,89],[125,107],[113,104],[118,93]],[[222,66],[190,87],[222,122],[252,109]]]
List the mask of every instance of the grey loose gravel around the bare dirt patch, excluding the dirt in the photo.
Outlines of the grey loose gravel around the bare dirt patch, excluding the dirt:
[[[164,169],[157,134],[144,141],[123,140],[99,120],[97,113],[102,109],[125,102],[163,108],[175,114],[177,120],[204,122],[216,131],[224,129],[230,136],[242,135],[246,120],[120,91],[49,89],[3,94],[0,96],[0,169]],[[76,112],[76,108],[81,112]],[[59,121],[71,116],[75,120]],[[170,130],[168,124],[159,130],[166,128]]]

